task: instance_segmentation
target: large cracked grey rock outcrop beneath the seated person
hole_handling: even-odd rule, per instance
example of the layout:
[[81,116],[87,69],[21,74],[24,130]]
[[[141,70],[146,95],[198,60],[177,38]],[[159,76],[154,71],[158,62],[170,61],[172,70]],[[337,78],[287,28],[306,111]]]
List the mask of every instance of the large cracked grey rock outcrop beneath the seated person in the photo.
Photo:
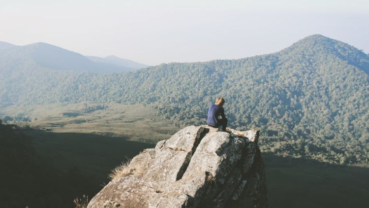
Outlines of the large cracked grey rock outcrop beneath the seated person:
[[268,208],[259,132],[188,126],[134,157],[88,208]]

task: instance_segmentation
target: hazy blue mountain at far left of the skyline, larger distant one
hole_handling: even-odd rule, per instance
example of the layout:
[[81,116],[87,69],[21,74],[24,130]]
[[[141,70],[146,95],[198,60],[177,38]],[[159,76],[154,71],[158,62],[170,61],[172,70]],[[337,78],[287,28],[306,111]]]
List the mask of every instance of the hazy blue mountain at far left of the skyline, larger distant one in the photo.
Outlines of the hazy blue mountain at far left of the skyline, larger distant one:
[[[28,63],[33,63],[34,67],[70,70],[78,72],[93,73],[120,73],[135,70],[134,68],[119,66],[109,63],[93,62],[85,56],[63,49],[48,43],[38,42],[25,46],[15,46],[10,43],[0,42],[0,57],[6,62],[12,60],[28,59]],[[20,63],[21,64],[21,63]]]

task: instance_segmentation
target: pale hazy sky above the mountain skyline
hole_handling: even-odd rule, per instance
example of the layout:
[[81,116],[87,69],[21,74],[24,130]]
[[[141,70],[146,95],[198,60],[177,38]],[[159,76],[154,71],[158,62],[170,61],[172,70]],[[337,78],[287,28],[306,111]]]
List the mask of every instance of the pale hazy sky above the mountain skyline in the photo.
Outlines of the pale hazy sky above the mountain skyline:
[[273,53],[313,34],[369,53],[369,0],[0,0],[0,41],[147,65]]

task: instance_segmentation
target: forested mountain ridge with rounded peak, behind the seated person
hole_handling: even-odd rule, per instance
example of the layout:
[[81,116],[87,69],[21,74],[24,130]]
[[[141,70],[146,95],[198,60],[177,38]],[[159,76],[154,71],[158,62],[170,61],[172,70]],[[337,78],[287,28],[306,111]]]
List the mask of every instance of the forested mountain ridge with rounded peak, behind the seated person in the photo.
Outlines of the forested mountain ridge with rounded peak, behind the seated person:
[[153,104],[177,126],[204,124],[223,96],[229,125],[259,128],[261,149],[337,164],[368,163],[369,57],[322,35],[277,53],[94,74],[37,65],[0,50],[0,107],[62,102]]

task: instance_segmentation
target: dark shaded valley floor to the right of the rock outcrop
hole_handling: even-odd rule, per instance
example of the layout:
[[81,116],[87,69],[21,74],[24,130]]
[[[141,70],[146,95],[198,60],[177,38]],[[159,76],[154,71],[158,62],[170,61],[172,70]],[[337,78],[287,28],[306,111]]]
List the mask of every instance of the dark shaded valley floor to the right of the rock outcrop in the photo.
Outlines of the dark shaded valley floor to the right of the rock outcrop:
[[369,168],[263,154],[272,208],[367,207]]

